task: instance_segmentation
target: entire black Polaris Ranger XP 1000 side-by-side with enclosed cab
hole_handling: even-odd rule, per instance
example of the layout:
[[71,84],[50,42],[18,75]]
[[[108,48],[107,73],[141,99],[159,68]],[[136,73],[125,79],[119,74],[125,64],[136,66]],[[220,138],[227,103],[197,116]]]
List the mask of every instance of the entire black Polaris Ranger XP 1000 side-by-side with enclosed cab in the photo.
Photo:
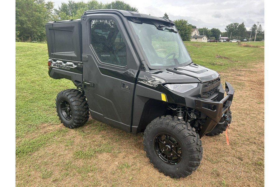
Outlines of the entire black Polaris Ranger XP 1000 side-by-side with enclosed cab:
[[200,164],[200,138],[222,133],[231,122],[234,89],[226,82],[224,90],[217,72],[192,61],[172,21],[93,10],[45,28],[49,76],[77,87],[56,98],[65,127],[82,126],[90,113],[126,132],[144,132],[150,162],[180,178]]

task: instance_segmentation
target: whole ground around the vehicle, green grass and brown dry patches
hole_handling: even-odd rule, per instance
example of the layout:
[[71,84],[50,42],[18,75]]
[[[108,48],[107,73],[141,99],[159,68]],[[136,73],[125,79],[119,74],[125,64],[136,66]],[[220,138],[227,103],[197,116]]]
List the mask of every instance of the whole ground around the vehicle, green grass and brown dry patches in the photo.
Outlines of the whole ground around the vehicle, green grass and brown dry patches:
[[16,42],[16,186],[264,186],[264,42],[184,44],[194,63],[216,70],[236,92],[230,145],[224,133],[203,137],[198,169],[171,179],[149,163],[142,133],[91,118],[63,127],[55,98],[74,85],[49,77],[46,44]]

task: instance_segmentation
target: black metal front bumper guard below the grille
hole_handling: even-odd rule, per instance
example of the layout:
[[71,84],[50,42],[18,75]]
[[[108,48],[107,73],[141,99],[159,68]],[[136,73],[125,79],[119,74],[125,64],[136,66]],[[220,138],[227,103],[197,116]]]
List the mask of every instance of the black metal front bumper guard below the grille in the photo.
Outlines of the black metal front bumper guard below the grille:
[[226,97],[222,98],[219,102],[209,101],[203,98],[197,98],[194,100],[195,108],[208,116],[199,132],[200,138],[206,133],[211,132],[221,120],[223,114],[226,114],[229,111],[234,95],[234,89],[228,82],[226,82],[226,94]]

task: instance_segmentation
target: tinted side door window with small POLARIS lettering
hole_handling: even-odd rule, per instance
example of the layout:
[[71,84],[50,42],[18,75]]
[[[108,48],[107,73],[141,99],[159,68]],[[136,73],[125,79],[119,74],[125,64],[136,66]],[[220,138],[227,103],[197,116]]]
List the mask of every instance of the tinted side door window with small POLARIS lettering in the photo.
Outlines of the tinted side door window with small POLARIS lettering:
[[127,65],[126,45],[113,20],[91,20],[91,45],[101,62]]

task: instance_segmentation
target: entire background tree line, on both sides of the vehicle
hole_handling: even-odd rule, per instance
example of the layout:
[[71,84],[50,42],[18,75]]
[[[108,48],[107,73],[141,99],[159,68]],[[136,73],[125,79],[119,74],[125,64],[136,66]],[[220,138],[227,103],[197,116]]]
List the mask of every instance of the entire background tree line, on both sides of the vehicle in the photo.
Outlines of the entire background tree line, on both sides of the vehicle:
[[[118,9],[138,12],[136,7],[116,0],[110,3],[102,3],[96,0],[88,2],[74,2],[69,0],[67,3],[62,2],[58,8],[54,8],[54,2],[46,2],[45,0],[16,0],[16,41],[45,41],[45,23],[62,20],[80,19],[83,12],[87,10],[97,9]],[[165,13],[164,18],[169,19]],[[194,25],[188,23],[188,20],[174,20],[183,41],[190,41]],[[231,39],[244,38],[254,39],[257,31],[256,41],[264,40],[264,30],[261,25],[254,24],[249,31],[246,30],[244,22],[231,23],[226,26],[225,32],[221,32],[217,28],[208,29],[207,27],[198,28],[200,35],[206,35],[209,39],[218,39],[220,35],[223,37],[231,37]]]

